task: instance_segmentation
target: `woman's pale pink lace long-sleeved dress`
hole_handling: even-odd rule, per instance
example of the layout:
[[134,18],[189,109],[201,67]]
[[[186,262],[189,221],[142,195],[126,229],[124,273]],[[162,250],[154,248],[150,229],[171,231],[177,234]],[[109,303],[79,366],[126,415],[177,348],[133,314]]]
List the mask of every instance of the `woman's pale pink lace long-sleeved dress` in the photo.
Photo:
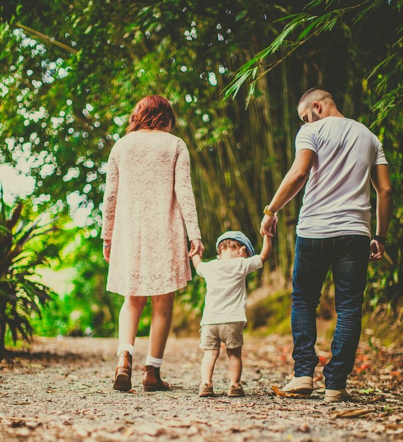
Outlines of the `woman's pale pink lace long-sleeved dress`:
[[101,238],[110,239],[106,289],[153,296],[191,279],[186,244],[201,238],[185,142],[170,133],[134,131],[108,160]]

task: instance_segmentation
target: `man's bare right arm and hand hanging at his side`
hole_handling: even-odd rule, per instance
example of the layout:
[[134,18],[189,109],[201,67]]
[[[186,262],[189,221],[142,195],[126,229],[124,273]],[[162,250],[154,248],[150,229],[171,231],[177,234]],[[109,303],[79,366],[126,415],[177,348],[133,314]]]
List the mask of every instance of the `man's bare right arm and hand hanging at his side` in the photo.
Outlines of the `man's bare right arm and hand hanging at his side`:
[[[376,191],[376,235],[386,238],[393,208],[392,186],[386,164],[372,167],[371,182]],[[379,261],[385,253],[385,246],[373,240],[371,253],[370,261]]]

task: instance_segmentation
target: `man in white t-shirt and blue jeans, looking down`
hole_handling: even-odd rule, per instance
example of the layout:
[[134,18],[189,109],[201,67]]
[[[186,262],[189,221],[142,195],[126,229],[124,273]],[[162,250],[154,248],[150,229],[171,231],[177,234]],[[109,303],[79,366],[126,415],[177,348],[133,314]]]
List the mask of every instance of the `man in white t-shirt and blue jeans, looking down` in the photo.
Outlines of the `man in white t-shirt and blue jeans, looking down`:
[[[338,319],[332,357],[323,375],[325,400],[339,402],[351,399],[346,380],[360,339],[368,260],[379,261],[385,251],[391,185],[381,142],[363,124],[342,115],[328,92],[317,88],[305,92],[298,115],[305,125],[296,137],[295,161],[264,210],[260,234],[276,231],[277,212],[308,179],[297,225],[293,273],[294,377],[284,391],[313,391],[319,361],[314,348],[316,307],[331,267]],[[370,181],[377,195],[376,235],[371,242]]]

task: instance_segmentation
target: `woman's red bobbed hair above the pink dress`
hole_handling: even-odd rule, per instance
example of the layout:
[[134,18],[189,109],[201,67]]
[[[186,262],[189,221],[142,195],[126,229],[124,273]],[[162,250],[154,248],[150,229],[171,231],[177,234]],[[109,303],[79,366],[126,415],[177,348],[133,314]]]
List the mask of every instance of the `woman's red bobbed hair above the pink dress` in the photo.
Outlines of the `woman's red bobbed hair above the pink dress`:
[[139,129],[162,129],[171,122],[175,125],[175,114],[169,101],[161,95],[142,98],[133,109],[126,133]]

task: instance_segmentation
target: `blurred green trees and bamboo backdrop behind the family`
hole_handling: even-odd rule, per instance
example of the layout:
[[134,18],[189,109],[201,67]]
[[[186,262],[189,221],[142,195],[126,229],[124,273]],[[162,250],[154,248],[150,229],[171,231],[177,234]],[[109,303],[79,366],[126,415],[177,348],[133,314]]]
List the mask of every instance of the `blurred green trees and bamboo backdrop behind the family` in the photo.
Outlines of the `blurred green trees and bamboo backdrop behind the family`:
[[[116,334],[122,299],[105,293],[97,239],[105,164],[131,109],[148,94],[166,96],[178,116],[175,134],[189,147],[208,256],[228,229],[244,231],[259,250],[261,210],[293,162],[295,107],[306,89],[329,90],[345,115],[372,127],[389,161],[395,212],[389,258],[370,267],[367,296],[373,308],[394,308],[402,291],[402,0],[304,5],[21,0],[0,6],[0,161],[35,179],[34,211],[73,218],[85,212],[82,229],[57,243],[61,265],[75,270],[74,289],[52,301],[36,331]],[[223,90],[234,100],[223,100]],[[285,283],[300,203],[298,195],[282,210],[269,263]],[[190,315],[202,299],[203,284],[194,277],[178,303]],[[149,327],[147,309],[140,333]]]

